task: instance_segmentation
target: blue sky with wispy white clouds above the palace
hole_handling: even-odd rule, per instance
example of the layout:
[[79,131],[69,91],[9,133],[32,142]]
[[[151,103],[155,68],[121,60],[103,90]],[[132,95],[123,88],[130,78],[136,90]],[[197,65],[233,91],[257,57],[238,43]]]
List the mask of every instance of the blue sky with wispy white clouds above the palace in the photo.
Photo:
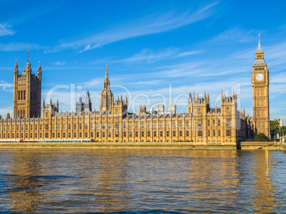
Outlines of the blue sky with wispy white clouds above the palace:
[[2,0],[0,7],[2,115],[12,113],[14,64],[23,71],[28,44],[33,73],[41,61],[42,99],[58,99],[63,111],[87,90],[98,110],[108,64],[115,97],[127,95],[129,111],[171,99],[186,111],[186,95],[205,90],[219,106],[221,90],[235,89],[238,108],[252,115],[260,33],[270,118],[286,123],[286,1]]

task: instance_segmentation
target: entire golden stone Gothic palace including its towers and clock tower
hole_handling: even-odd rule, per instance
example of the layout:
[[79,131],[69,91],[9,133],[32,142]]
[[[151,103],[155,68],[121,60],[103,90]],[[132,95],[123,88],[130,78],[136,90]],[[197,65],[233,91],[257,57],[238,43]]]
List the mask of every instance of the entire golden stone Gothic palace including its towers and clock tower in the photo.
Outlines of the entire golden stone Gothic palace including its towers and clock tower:
[[[157,111],[139,107],[139,113],[128,111],[127,97],[115,99],[110,80],[105,80],[100,94],[100,107],[92,111],[90,93],[76,103],[75,112],[59,112],[58,101],[41,101],[41,64],[32,73],[28,59],[23,73],[14,66],[13,118],[0,119],[0,139],[92,139],[94,141],[193,141],[194,144],[236,144],[253,139],[255,134],[270,137],[269,71],[260,46],[251,70],[253,117],[240,112],[237,95],[221,92],[221,106],[211,107],[206,92],[203,97],[191,95],[187,112],[177,112],[175,105],[157,105]],[[42,102],[42,106],[41,106]],[[41,109],[42,107],[42,109]],[[42,113],[42,117],[41,117]]]

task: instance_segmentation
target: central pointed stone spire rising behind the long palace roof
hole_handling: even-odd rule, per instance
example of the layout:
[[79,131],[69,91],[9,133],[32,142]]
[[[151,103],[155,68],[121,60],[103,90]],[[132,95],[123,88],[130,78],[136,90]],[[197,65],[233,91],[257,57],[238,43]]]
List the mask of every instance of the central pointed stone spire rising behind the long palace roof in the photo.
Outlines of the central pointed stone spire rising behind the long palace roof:
[[103,82],[103,89],[100,94],[100,111],[112,111],[114,105],[114,97],[110,90],[110,80],[107,73],[107,65],[105,72],[105,81]]

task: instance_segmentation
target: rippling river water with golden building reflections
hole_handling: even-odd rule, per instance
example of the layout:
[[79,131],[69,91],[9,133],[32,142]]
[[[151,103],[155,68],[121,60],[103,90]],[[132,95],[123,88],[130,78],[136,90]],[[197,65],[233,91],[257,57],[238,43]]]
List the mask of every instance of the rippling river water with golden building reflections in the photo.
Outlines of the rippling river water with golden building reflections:
[[0,151],[0,211],[281,213],[286,154],[270,151]]

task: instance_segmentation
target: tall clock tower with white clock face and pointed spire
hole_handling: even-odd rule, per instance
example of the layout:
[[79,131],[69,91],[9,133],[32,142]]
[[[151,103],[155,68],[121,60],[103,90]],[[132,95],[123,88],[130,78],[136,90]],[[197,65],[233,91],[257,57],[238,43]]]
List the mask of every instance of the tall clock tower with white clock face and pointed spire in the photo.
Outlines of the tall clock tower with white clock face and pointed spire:
[[260,46],[260,36],[258,49],[256,50],[255,63],[251,70],[251,80],[253,85],[253,119],[255,133],[264,133],[270,137],[269,119],[269,70],[264,61],[263,50]]

